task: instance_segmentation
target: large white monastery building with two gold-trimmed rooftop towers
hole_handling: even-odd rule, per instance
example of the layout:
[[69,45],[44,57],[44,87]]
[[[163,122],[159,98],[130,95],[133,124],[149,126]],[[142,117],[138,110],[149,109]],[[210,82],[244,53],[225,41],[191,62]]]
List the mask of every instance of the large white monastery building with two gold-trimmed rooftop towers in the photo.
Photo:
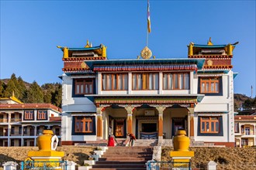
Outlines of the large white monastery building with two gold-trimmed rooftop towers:
[[235,44],[190,43],[188,58],[107,59],[106,46],[63,51],[62,145],[109,134],[171,139],[179,128],[194,142],[234,146]]

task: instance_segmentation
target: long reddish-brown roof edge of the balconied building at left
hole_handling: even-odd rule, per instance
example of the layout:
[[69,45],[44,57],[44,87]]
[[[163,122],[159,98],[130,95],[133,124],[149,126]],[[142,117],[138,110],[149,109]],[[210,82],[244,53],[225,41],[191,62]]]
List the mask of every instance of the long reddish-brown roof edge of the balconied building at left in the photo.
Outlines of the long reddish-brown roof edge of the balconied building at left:
[[61,112],[61,108],[53,104],[0,104],[0,110],[3,109],[52,109]]

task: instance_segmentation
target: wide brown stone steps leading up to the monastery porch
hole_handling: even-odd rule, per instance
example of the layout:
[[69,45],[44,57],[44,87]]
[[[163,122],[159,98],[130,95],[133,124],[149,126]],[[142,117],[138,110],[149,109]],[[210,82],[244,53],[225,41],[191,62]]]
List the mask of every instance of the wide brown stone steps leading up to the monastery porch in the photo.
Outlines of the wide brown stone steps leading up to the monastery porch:
[[152,159],[153,148],[150,147],[109,147],[99,158],[92,170],[145,170],[146,162]]

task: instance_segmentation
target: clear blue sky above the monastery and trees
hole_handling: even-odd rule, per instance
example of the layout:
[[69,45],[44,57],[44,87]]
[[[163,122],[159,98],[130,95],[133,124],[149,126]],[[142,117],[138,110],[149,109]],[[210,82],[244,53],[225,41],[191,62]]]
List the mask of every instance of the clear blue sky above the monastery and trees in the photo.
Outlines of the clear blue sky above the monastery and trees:
[[[255,1],[150,0],[149,48],[157,59],[187,58],[189,42],[239,41],[234,49],[235,93],[255,87]],[[56,46],[107,46],[108,59],[136,59],[146,45],[147,0],[1,0],[0,79],[12,73],[32,83],[61,82]],[[255,96],[255,92],[253,94]]]

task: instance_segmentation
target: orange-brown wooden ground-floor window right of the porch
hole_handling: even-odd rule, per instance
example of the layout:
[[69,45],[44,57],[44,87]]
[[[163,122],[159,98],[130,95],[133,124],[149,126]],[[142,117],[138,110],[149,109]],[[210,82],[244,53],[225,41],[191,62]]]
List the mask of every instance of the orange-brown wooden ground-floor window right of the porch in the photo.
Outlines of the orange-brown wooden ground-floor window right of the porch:
[[220,132],[219,117],[200,117],[200,133],[202,134],[217,134]]

